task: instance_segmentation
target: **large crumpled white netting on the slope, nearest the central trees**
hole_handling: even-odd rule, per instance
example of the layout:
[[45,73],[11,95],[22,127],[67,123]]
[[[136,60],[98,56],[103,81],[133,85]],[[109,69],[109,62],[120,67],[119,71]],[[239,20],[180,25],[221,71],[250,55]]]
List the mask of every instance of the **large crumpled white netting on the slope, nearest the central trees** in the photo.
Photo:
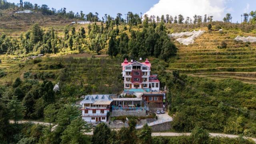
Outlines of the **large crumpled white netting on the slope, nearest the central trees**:
[[[169,37],[177,38],[176,41],[178,41],[180,44],[194,44],[194,39],[198,38],[202,34],[204,34],[205,30],[193,30],[192,32],[180,32],[180,33],[172,33],[168,34]],[[183,36],[189,36],[188,38],[181,38]]]

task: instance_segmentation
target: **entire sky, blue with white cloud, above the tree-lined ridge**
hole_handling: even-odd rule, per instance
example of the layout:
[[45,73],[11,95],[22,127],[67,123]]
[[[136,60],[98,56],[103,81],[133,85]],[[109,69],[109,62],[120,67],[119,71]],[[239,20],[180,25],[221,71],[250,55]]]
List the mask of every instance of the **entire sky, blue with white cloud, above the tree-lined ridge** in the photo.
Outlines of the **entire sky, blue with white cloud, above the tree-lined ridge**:
[[[18,3],[19,0],[8,0]],[[24,0],[26,1],[26,0]],[[116,16],[128,11],[146,13],[148,15],[182,14],[184,17],[198,15],[213,15],[214,20],[222,20],[226,13],[232,14],[232,22],[241,22],[240,15],[256,10],[256,0],[27,0],[33,4],[47,4],[57,10],[63,7],[67,11],[84,13],[98,12],[101,18],[104,14]]]

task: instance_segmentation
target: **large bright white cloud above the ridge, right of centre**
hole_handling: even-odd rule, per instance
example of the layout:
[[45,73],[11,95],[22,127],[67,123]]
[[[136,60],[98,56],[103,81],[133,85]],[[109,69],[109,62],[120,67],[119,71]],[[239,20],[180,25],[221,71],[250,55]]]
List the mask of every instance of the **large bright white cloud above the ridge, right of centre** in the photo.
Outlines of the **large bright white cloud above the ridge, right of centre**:
[[195,14],[214,16],[214,20],[222,20],[224,16],[224,4],[226,0],[159,0],[157,4],[145,14],[161,16],[170,14],[192,18]]

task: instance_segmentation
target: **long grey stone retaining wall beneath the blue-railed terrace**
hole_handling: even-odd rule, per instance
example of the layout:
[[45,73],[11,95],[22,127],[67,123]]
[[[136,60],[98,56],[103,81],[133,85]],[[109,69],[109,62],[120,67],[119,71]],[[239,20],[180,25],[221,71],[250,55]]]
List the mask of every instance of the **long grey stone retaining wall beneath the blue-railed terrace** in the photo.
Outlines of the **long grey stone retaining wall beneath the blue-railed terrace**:
[[146,116],[146,110],[113,110],[111,116]]

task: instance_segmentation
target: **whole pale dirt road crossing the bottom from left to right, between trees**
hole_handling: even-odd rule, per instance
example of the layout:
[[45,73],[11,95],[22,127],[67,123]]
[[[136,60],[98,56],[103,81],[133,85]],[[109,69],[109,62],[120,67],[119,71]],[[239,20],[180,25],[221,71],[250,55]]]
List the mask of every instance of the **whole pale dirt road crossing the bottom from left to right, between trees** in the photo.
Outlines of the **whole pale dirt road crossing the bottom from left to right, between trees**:
[[[42,124],[49,126],[50,123],[48,122],[36,122],[36,121],[27,121],[27,120],[22,120],[18,121],[17,123],[26,123],[26,122],[32,122],[33,124]],[[10,123],[14,123],[13,120],[10,120]],[[54,125],[54,124],[53,124]],[[58,126],[58,124],[54,125],[52,127],[52,130],[54,130]],[[87,132],[84,134],[92,135],[93,132]],[[189,136],[191,133],[178,133],[178,132],[152,132],[152,136]],[[221,134],[221,133],[210,133],[210,136],[222,136],[222,137],[228,137],[228,138],[237,138],[239,135],[233,135],[233,134]],[[250,138],[250,137],[244,137],[244,138]],[[256,142],[256,138],[250,138],[254,142]]]

